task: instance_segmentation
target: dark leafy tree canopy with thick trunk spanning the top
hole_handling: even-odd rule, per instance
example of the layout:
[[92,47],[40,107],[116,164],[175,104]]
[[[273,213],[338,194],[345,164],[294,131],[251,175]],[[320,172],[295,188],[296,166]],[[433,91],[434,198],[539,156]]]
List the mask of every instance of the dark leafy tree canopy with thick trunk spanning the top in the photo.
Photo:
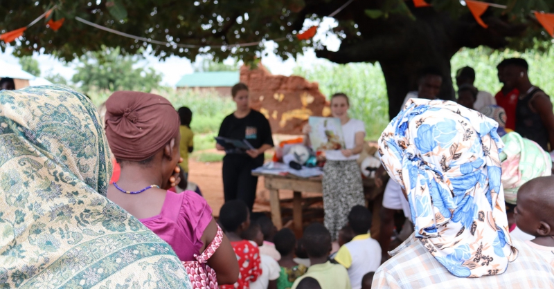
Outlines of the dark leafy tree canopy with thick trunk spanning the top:
[[[391,102],[389,114],[395,115],[406,92],[414,88],[417,72],[435,66],[449,75],[449,59],[460,48],[484,45],[545,50],[551,45],[551,37],[531,12],[554,12],[554,1],[487,1],[508,8],[488,8],[481,17],[488,28],[483,28],[458,0],[427,0],[432,6],[425,8],[415,8],[412,1],[404,0],[354,0],[334,16],[339,26],[332,33],[342,40],[338,51],[328,51],[317,41],[298,40],[295,35],[306,28],[305,19],[320,21],[347,0],[2,1],[0,27],[1,32],[24,27],[56,5],[51,17],[65,17],[62,28],[55,32],[42,22],[28,28],[16,55],[40,50],[66,61],[102,50],[102,45],[119,46],[123,54],[136,54],[151,45],[152,53],[162,59],[170,55],[195,59],[199,53],[208,53],[214,59],[231,55],[247,63],[260,59],[263,44],[233,45],[277,39],[275,53],[284,59],[311,46],[316,55],[336,63],[379,62]],[[115,35],[75,17],[169,44]],[[452,80],[445,78],[441,93],[449,99],[454,96]]]

